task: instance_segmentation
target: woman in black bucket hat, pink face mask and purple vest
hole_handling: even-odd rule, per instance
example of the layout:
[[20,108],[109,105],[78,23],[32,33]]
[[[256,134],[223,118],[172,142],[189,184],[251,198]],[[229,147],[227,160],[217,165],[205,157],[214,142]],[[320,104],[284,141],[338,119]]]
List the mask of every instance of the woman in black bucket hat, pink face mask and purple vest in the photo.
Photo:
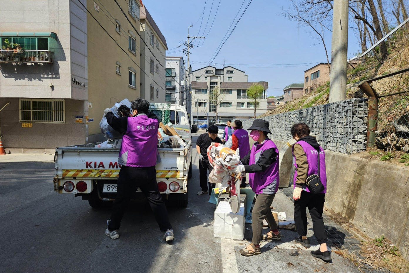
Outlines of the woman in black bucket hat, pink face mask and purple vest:
[[267,136],[271,132],[266,120],[254,120],[248,130],[251,130],[250,137],[256,142],[245,158],[240,160],[243,165],[239,165],[235,171],[249,173],[249,185],[256,193],[256,203],[252,211],[253,239],[251,244],[240,250],[243,256],[261,253],[263,219],[271,229],[263,236],[263,240],[281,240],[281,234],[270,209],[279,186],[279,150]]

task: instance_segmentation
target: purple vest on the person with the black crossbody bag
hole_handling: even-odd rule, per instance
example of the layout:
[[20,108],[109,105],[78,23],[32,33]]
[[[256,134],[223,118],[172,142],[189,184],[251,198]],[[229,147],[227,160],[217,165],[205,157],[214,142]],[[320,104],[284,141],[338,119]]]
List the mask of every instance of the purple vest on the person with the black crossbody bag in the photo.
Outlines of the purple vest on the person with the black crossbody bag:
[[[312,174],[317,174],[318,173],[318,151],[314,149],[310,144],[307,142],[301,140],[298,141],[297,144],[300,144],[301,147],[303,147],[304,152],[307,155],[307,162],[308,162],[308,176]],[[321,191],[321,193],[326,193],[327,192],[327,174],[326,174],[326,169],[325,169],[325,153],[324,149],[319,146],[319,179],[321,180],[321,183],[324,185],[324,191]],[[292,153],[294,156],[294,151]],[[294,166],[295,166],[295,173],[294,173],[294,188],[295,188],[295,181],[297,180],[297,163],[295,163],[295,156],[294,156]],[[303,185],[303,191],[310,192],[310,190],[307,188],[306,184]]]

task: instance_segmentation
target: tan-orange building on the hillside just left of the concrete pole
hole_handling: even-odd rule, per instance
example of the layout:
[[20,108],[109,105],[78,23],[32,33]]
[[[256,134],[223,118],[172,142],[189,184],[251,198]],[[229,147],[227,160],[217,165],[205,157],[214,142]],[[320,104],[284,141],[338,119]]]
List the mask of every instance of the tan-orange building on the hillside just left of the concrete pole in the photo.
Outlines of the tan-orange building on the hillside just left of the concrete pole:
[[317,64],[304,71],[303,94],[314,91],[317,87],[326,84],[330,80],[330,69],[327,63]]

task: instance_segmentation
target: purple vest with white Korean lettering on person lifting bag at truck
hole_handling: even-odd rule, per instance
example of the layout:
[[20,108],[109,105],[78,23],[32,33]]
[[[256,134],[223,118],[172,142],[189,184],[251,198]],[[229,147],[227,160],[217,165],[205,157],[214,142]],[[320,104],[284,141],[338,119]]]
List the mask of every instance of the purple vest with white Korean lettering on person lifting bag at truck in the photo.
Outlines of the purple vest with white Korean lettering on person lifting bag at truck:
[[122,138],[118,164],[130,167],[155,166],[159,122],[145,114],[128,117],[128,128]]

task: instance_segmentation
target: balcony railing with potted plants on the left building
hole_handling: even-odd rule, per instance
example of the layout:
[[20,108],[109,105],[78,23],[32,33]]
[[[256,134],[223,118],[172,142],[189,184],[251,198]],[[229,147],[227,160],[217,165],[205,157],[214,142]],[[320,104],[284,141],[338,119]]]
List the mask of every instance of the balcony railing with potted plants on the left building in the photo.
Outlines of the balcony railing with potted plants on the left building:
[[19,52],[1,50],[0,62],[44,62],[54,63],[54,52],[49,50],[23,50]]

